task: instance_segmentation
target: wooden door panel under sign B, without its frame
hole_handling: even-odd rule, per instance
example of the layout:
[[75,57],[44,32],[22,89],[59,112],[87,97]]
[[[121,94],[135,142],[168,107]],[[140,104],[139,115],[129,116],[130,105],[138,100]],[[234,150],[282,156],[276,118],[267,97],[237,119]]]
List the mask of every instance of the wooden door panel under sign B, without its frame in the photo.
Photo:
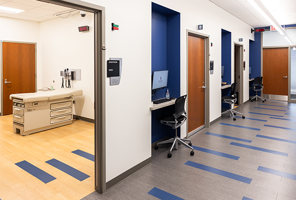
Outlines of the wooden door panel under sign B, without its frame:
[[188,36],[188,133],[205,124],[205,39]]

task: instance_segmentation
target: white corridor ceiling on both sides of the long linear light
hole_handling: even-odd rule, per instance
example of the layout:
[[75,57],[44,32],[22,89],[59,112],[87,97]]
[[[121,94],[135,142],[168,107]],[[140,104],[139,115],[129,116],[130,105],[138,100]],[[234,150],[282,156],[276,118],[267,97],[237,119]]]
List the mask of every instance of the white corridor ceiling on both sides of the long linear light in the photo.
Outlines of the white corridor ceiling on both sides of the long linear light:
[[[254,28],[271,24],[247,0],[210,0]],[[260,0],[280,25],[296,24],[296,0]]]

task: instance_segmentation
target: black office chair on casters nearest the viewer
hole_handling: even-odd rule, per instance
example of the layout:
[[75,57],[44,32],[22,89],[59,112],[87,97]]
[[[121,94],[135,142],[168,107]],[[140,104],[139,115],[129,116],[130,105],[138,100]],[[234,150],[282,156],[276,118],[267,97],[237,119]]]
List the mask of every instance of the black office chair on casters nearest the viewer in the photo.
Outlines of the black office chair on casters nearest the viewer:
[[[162,142],[158,142],[157,145],[154,147],[154,149],[157,150],[158,145],[160,145],[160,144],[173,143],[170,153],[168,153],[168,158],[172,157],[172,150],[173,150],[174,146],[175,146],[176,150],[178,149],[178,143],[190,148],[192,150],[190,152],[190,155],[191,156],[194,155],[193,148],[191,147],[191,145],[192,145],[191,140],[179,138],[177,135],[177,128],[180,127],[187,119],[186,111],[184,108],[186,97],[187,97],[187,94],[176,99],[175,114],[168,115],[168,116],[165,116],[165,117],[159,119],[161,123],[171,126],[173,129],[176,129],[176,135],[174,138],[171,138],[169,140],[165,140]],[[185,142],[189,142],[189,144],[186,144]]]

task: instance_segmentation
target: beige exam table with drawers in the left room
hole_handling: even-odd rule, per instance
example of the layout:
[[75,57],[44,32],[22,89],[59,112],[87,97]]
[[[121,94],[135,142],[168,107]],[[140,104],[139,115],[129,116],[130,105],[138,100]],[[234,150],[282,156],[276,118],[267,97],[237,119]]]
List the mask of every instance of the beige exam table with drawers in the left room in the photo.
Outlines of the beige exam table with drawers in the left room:
[[82,93],[82,89],[60,88],[11,94],[14,133],[25,136],[71,124],[74,96],[81,96]]

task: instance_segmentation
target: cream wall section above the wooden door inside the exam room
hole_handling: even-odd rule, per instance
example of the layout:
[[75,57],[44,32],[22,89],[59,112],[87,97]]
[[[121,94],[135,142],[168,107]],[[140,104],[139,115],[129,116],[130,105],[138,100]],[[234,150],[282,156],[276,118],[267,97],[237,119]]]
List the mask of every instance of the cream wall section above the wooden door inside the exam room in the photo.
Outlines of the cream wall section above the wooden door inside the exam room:
[[[39,22],[0,16],[0,40],[39,43]],[[1,50],[1,49],[0,49]],[[0,52],[1,54],[1,52]],[[40,60],[37,58],[37,64]],[[3,77],[5,79],[5,77]],[[8,81],[8,80],[7,80]],[[1,86],[0,82],[0,86]],[[0,96],[1,98],[1,96]],[[0,105],[1,109],[2,105]]]

